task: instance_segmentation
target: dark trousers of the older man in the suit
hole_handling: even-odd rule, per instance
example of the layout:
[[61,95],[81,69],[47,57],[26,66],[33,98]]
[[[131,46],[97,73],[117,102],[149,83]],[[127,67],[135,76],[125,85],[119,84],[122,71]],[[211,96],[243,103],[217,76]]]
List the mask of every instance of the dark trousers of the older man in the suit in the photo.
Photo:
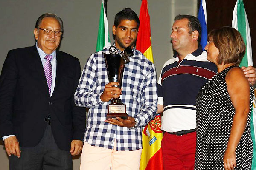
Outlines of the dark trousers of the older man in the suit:
[[9,157],[10,170],[72,170],[72,156],[58,148],[49,124],[37,146],[20,147],[20,151],[20,158]]

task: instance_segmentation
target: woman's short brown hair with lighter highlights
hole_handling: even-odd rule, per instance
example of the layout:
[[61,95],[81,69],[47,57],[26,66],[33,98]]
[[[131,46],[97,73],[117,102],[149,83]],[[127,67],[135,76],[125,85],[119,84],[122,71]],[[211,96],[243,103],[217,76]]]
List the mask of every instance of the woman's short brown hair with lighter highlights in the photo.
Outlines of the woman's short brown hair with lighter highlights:
[[218,64],[240,64],[246,47],[239,31],[232,27],[221,27],[210,31],[208,34],[209,39],[212,39],[215,47],[219,50]]

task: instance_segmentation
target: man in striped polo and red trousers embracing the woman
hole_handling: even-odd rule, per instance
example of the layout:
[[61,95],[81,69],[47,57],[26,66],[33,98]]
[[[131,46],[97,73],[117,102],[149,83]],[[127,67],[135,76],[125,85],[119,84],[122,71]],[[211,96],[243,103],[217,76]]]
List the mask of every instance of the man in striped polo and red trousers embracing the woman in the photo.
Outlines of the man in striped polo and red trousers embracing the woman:
[[[195,98],[200,88],[217,73],[201,46],[201,25],[197,17],[177,15],[172,26],[174,58],[163,66],[158,80],[158,111],[163,112],[165,131],[161,143],[165,170],[193,170],[196,145]],[[255,84],[255,68],[244,68]]]

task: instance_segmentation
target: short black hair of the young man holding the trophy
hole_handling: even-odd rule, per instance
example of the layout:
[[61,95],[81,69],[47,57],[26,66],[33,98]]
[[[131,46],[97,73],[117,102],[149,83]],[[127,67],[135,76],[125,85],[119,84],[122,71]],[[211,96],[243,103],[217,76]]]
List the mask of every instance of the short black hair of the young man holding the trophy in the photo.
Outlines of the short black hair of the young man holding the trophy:
[[124,8],[122,11],[118,12],[115,16],[114,25],[117,27],[122,20],[135,20],[137,23],[137,28],[139,29],[140,20],[138,15],[131,10],[131,8]]

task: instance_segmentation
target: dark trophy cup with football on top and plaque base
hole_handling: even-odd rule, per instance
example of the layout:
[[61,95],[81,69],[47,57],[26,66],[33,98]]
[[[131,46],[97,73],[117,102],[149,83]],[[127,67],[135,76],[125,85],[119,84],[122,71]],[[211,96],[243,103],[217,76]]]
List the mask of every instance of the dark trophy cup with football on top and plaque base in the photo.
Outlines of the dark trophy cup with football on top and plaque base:
[[[119,86],[115,85],[115,87],[121,88],[125,64],[130,62],[129,57],[133,56],[133,51],[131,47],[127,47],[121,53],[117,53],[118,50],[115,46],[111,46],[109,51],[111,54],[103,53],[108,80],[109,82],[119,82]],[[119,97],[111,99],[106,118],[116,117],[121,117],[122,119],[128,118],[126,106]]]

